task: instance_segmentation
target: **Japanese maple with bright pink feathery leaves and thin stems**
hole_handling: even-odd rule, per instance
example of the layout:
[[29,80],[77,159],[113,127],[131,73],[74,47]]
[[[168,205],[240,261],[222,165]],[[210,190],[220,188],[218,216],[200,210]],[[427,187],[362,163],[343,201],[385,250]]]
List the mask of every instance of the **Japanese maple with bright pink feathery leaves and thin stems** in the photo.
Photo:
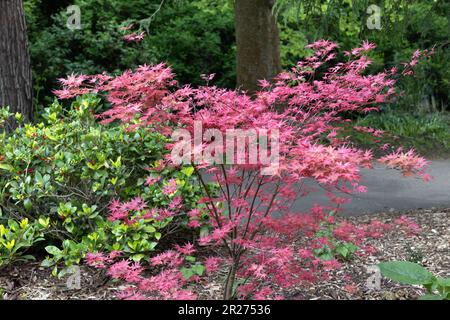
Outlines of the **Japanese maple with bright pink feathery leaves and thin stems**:
[[[100,114],[103,123],[120,121],[130,126],[145,126],[170,135],[182,128],[194,132],[195,123],[204,128],[225,133],[230,129],[253,129],[270,132],[277,129],[280,141],[279,165],[272,175],[262,175],[264,164],[209,164],[194,163],[196,173],[206,196],[199,203],[199,211],[189,213],[189,226],[207,225],[209,233],[202,234],[198,245],[222,248],[229,267],[224,285],[224,297],[230,298],[236,277],[249,279],[239,288],[242,297],[276,298],[270,288],[262,286],[270,279],[286,288],[326,277],[326,272],[339,267],[337,260],[321,261],[312,255],[312,249],[327,243],[326,238],[311,241],[309,248],[296,250],[295,237],[312,237],[320,224],[328,219],[327,207],[314,207],[309,212],[293,212],[292,205],[299,197],[311,192],[305,184],[313,180],[330,196],[335,209],[346,200],[336,197],[335,191],[364,192],[360,185],[360,168],[371,168],[373,154],[359,150],[345,140],[337,139],[337,124],[345,121],[344,112],[367,113],[378,110],[380,104],[394,97],[396,68],[367,75],[371,61],[366,53],[373,44],[364,42],[360,48],[346,52],[346,62],[336,61],[338,45],[318,41],[309,46],[314,53],[299,62],[289,72],[278,75],[274,82],[262,80],[261,90],[250,96],[237,90],[206,85],[198,88],[177,87],[171,69],[164,64],[141,66],[120,76],[106,74],[71,76],[62,80],[63,89],[55,93],[60,98],[71,98],[85,93],[102,93],[111,108]],[[407,73],[413,62],[405,66]],[[212,78],[208,78],[208,81]],[[375,135],[381,132],[361,129]],[[175,141],[174,141],[175,142]],[[202,152],[211,141],[203,141]],[[169,145],[171,148],[173,145]],[[194,148],[195,149],[195,148]],[[426,161],[413,151],[397,150],[379,159],[389,168],[404,175],[419,175],[425,179]],[[166,165],[172,165],[167,158]],[[205,176],[219,186],[211,193]],[[154,181],[148,180],[151,184]],[[176,191],[170,182],[165,194]],[[127,219],[131,204],[112,204],[112,219]],[[220,205],[219,205],[220,204]],[[205,217],[200,218],[203,214]],[[282,215],[282,218],[276,218]],[[402,220],[403,221],[403,220]],[[406,225],[406,222],[401,222]],[[358,241],[377,237],[385,231],[383,224],[372,222],[366,227],[341,224],[335,236]],[[222,250],[221,249],[221,250]],[[128,297],[154,296],[160,298],[190,298],[192,293],[176,290],[185,285],[177,271],[181,253],[169,251],[152,259],[153,266],[165,265],[161,273],[142,279],[142,269],[128,262],[111,267],[115,278],[137,284]],[[220,250],[219,250],[220,251]],[[217,269],[219,260],[208,260],[208,268]],[[114,267],[115,266],[115,267]],[[130,273],[131,277],[128,277]],[[124,276],[125,275],[125,276]],[[131,281],[130,281],[131,280]],[[142,292],[144,293],[142,295]],[[139,296],[136,296],[139,294]],[[127,297],[127,294],[125,294]]]

